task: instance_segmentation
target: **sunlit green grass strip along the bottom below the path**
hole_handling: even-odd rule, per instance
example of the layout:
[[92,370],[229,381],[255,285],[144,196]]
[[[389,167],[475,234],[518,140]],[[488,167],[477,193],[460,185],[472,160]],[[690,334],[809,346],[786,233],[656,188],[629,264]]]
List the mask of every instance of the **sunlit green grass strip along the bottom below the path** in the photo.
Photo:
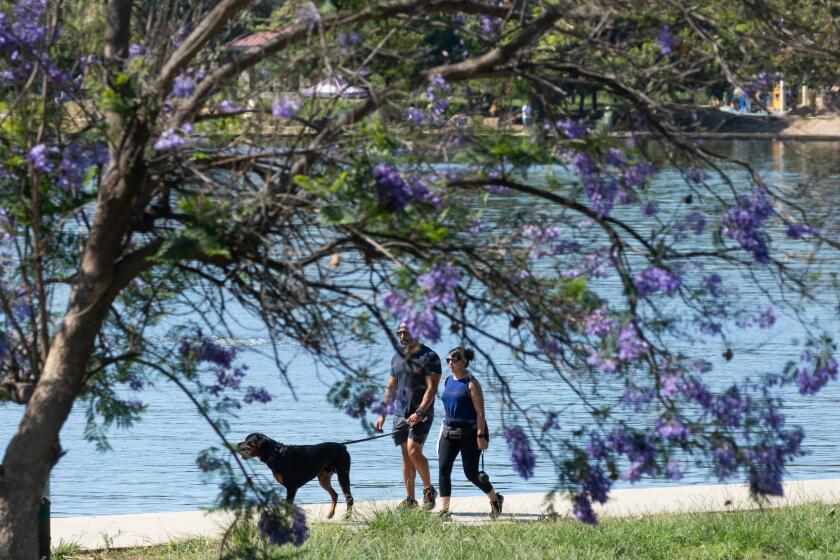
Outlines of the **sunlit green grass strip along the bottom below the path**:
[[[231,558],[247,558],[253,535],[232,539]],[[253,541],[251,541],[253,542]],[[146,549],[57,551],[60,560],[210,560],[218,543],[203,539]],[[361,525],[316,524],[300,548],[275,547],[271,558],[322,559],[840,559],[840,506],[811,504],[779,510],[657,515],[604,520],[597,527],[571,519],[441,523],[423,512],[385,512]]]

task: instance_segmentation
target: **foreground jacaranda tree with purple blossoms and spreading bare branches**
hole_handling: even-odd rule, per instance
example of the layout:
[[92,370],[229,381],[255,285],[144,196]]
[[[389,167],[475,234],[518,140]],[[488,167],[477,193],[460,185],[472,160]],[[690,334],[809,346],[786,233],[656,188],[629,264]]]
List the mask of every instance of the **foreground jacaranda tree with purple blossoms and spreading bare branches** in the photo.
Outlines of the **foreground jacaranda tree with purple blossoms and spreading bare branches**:
[[[551,395],[527,409],[504,392],[503,435],[522,476],[554,462],[582,521],[619,477],[687,461],[781,494],[804,432],[779,395],[837,375],[808,322],[836,293],[814,264],[836,258],[836,225],[757,173],[736,187],[733,162],[684,131],[704,91],[755,91],[803,58],[837,74],[834,14],[800,4],[0,2],[0,399],[26,407],[0,470],[0,558],[37,555],[74,404],[106,446],[149,384],[186,391],[222,438],[227,411],[271,398],[213,342],[232,302],[345,372],[331,399],[363,420],[388,403],[341,349],[397,321],[458,333],[503,389],[490,344],[551,372],[588,418],[561,430]],[[329,77],[367,95],[298,95]],[[538,118],[484,128],[476,92]],[[576,92],[613,118],[580,113]],[[666,167],[680,204],[651,187]],[[193,322],[166,321],[184,310]],[[733,330],[781,315],[809,336],[777,371],[716,386],[685,350],[731,356]],[[224,446],[199,464],[221,506],[261,508],[270,542],[306,538]]]

